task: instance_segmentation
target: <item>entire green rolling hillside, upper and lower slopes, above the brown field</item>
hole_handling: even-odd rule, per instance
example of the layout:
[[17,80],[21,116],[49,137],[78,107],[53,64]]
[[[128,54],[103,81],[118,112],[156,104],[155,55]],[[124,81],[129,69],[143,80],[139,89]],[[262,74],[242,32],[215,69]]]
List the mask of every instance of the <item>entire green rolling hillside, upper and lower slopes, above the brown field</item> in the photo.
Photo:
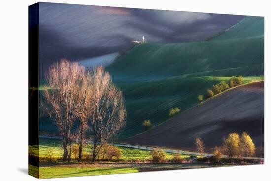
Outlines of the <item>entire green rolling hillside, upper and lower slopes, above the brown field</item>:
[[[197,106],[197,95],[232,75],[263,80],[263,30],[262,17],[246,17],[211,41],[144,43],[118,57],[105,70],[125,98],[127,124],[120,137],[143,132],[145,119],[153,126],[163,123],[172,107],[185,113]],[[40,130],[56,128],[43,117]]]

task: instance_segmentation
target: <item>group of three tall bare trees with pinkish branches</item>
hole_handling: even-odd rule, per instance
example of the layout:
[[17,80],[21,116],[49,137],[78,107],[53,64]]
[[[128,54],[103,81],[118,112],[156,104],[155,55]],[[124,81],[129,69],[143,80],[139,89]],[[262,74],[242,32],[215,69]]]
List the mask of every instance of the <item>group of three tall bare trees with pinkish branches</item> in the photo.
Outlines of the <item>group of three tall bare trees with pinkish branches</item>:
[[[81,161],[85,132],[92,131],[92,161],[109,139],[126,122],[123,96],[102,67],[85,70],[78,63],[62,60],[53,64],[46,73],[48,87],[44,90],[44,109],[54,120],[63,139],[63,161],[70,161],[71,129],[80,121],[78,160]],[[70,148],[68,149],[68,145]]]

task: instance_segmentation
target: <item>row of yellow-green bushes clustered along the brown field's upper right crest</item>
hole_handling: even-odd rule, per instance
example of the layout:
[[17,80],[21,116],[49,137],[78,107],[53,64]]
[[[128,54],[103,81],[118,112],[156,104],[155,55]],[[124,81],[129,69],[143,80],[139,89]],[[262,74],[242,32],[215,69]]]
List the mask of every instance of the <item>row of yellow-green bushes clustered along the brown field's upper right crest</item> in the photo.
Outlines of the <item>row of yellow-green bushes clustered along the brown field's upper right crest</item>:
[[[213,97],[216,94],[219,94],[229,88],[238,86],[243,84],[243,77],[239,76],[232,76],[229,80],[228,83],[226,83],[225,81],[221,81],[218,84],[215,84],[212,86],[211,89],[207,89],[206,94],[205,94],[205,98],[208,99],[210,97]],[[199,102],[202,102],[204,100],[204,96],[202,94],[198,95],[198,100]]]

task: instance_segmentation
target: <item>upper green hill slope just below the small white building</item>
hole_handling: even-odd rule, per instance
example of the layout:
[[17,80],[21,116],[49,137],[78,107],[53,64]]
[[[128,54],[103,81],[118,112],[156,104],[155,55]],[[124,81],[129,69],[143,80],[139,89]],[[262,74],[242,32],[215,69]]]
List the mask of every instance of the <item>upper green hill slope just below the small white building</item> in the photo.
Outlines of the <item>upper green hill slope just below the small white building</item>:
[[156,79],[218,70],[223,72],[213,75],[226,76],[235,74],[233,68],[242,69],[243,76],[263,75],[263,31],[263,18],[246,17],[212,41],[141,44],[107,70],[114,79]]

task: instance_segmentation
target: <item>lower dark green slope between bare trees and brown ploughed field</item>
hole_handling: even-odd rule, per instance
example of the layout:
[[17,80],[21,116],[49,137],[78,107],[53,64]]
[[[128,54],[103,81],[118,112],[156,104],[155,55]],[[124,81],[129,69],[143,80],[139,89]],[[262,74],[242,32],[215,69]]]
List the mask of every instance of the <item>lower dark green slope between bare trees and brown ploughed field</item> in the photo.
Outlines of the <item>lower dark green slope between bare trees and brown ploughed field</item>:
[[[179,107],[181,111],[198,104],[197,96],[220,81],[230,77],[166,78],[144,82],[118,82],[123,90],[127,109],[127,123],[121,137],[129,137],[144,131],[142,122],[151,120],[158,125],[169,119],[169,109]],[[263,76],[245,77],[244,82],[260,81]]]

